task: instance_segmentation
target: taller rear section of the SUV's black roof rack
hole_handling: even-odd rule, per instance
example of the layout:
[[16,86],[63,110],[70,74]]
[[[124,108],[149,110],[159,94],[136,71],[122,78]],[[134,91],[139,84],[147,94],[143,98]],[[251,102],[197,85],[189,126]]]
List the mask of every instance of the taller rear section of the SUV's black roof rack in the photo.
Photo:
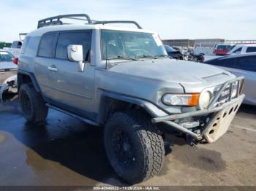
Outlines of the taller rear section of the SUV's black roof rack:
[[[79,17],[85,17],[79,18]],[[73,20],[85,20],[88,23],[91,23],[91,18],[89,15],[86,14],[69,14],[69,15],[58,15],[54,17],[48,17],[42,20],[38,21],[37,28],[41,28],[44,26],[58,26],[58,25],[64,25],[64,24],[69,24],[69,23],[63,23],[61,21],[62,18],[68,18],[68,19],[73,19]]]

